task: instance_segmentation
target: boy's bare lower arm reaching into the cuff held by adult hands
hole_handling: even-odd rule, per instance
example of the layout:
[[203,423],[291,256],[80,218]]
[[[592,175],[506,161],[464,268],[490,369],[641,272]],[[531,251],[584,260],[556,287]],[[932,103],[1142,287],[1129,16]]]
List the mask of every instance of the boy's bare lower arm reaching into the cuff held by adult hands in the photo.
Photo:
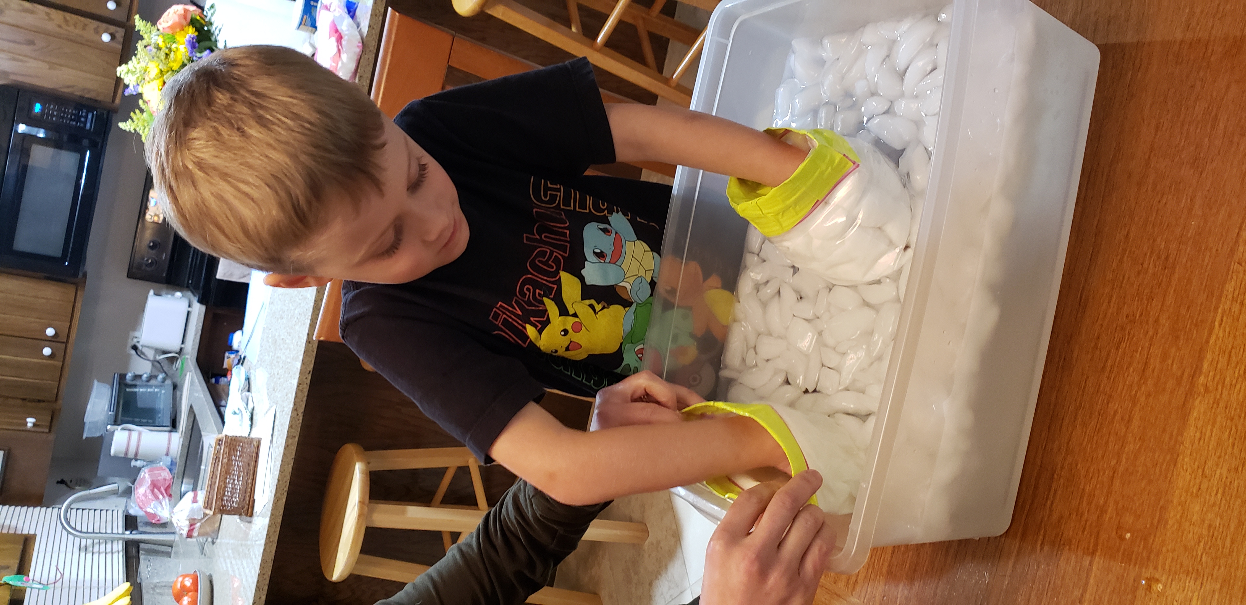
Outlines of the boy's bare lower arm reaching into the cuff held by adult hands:
[[564,427],[536,403],[511,420],[488,453],[537,489],[576,505],[787,462],[770,433],[745,417],[586,433]]

